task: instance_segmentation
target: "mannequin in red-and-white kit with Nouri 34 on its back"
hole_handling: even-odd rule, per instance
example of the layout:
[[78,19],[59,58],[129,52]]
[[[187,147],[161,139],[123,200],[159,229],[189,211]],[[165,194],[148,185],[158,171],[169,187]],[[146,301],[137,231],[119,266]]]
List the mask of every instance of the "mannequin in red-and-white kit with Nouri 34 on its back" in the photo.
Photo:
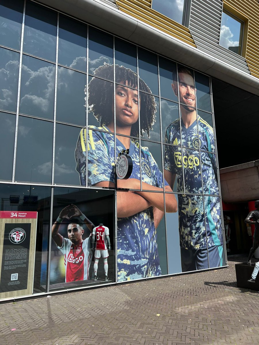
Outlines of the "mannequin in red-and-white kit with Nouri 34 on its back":
[[[103,257],[104,262],[104,273],[105,273],[105,280],[108,280],[108,249],[111,250],[111,243],[109,238],[109,229],[107,226],[104,226],[102,223],[99,226],[96,226],[93,229],[92,233],[92,243],[94,247],[95,243],[95,236],[96,236],[96,244],[95,244],[95,253],[94,253],[94,280],[97,280],[97,269],[98,269],[98,262],[99,258]],[[107,249],[108,248],[108,249]]]

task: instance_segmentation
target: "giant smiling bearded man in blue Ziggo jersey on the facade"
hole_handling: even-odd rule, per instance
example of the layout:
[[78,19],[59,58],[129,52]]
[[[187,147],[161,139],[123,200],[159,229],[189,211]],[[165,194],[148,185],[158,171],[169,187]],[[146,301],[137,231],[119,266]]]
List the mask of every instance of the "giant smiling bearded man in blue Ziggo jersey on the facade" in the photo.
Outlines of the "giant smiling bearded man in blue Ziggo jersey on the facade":
[[223,235],[213,129],[196,114],[192,72],[179,66],[178,81],[179,91],[175,71],[172,89],[181,119],[166,129],[164,177],[172,188],[177,177],[181,264],[188,272],[208,268],[208,256],[210,267],[223,265]]

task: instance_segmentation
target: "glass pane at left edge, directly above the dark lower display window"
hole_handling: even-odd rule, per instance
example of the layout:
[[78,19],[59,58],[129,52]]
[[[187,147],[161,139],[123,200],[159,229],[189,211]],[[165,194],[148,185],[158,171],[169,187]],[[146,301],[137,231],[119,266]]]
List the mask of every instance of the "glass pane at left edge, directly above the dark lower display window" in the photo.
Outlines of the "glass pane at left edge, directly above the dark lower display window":
[[0,170],[0,179],[6,181],[12,180],[15,122],[15,115],[0,112],[0,146],[4,148],[1,150],[2,164]]

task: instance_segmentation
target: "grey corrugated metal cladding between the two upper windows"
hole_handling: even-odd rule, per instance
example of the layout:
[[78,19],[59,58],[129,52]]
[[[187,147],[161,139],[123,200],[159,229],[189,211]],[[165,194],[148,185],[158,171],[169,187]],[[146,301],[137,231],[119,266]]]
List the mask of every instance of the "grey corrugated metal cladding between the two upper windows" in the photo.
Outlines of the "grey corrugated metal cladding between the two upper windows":
[[221,13],[221,0],[192,0],[190,31],[197,48],[250,74],[245,58],[219,46]]

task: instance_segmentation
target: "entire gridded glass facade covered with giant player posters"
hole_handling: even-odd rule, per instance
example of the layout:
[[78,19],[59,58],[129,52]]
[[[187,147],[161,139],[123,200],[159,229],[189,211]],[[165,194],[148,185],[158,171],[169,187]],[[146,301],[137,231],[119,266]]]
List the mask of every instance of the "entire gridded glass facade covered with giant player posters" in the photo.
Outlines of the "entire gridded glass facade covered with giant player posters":
[[[210,77],[33,2],[3,6],[0,299],[224,266]],[[18,247],[26,282],[6,264]]]

